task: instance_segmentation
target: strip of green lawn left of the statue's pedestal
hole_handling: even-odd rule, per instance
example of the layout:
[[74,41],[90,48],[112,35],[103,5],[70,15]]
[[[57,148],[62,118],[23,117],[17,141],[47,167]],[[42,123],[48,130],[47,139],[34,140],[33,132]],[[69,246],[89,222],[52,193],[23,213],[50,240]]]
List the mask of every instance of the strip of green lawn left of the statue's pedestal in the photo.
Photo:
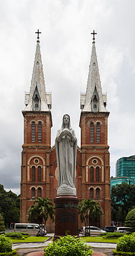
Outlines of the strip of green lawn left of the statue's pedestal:
[[30,236],[24,239],[11,239],[11,238],[10,239],[12,240],[13,243],[18,243],[18,242],[44,242],[48,238],[49,236]]

